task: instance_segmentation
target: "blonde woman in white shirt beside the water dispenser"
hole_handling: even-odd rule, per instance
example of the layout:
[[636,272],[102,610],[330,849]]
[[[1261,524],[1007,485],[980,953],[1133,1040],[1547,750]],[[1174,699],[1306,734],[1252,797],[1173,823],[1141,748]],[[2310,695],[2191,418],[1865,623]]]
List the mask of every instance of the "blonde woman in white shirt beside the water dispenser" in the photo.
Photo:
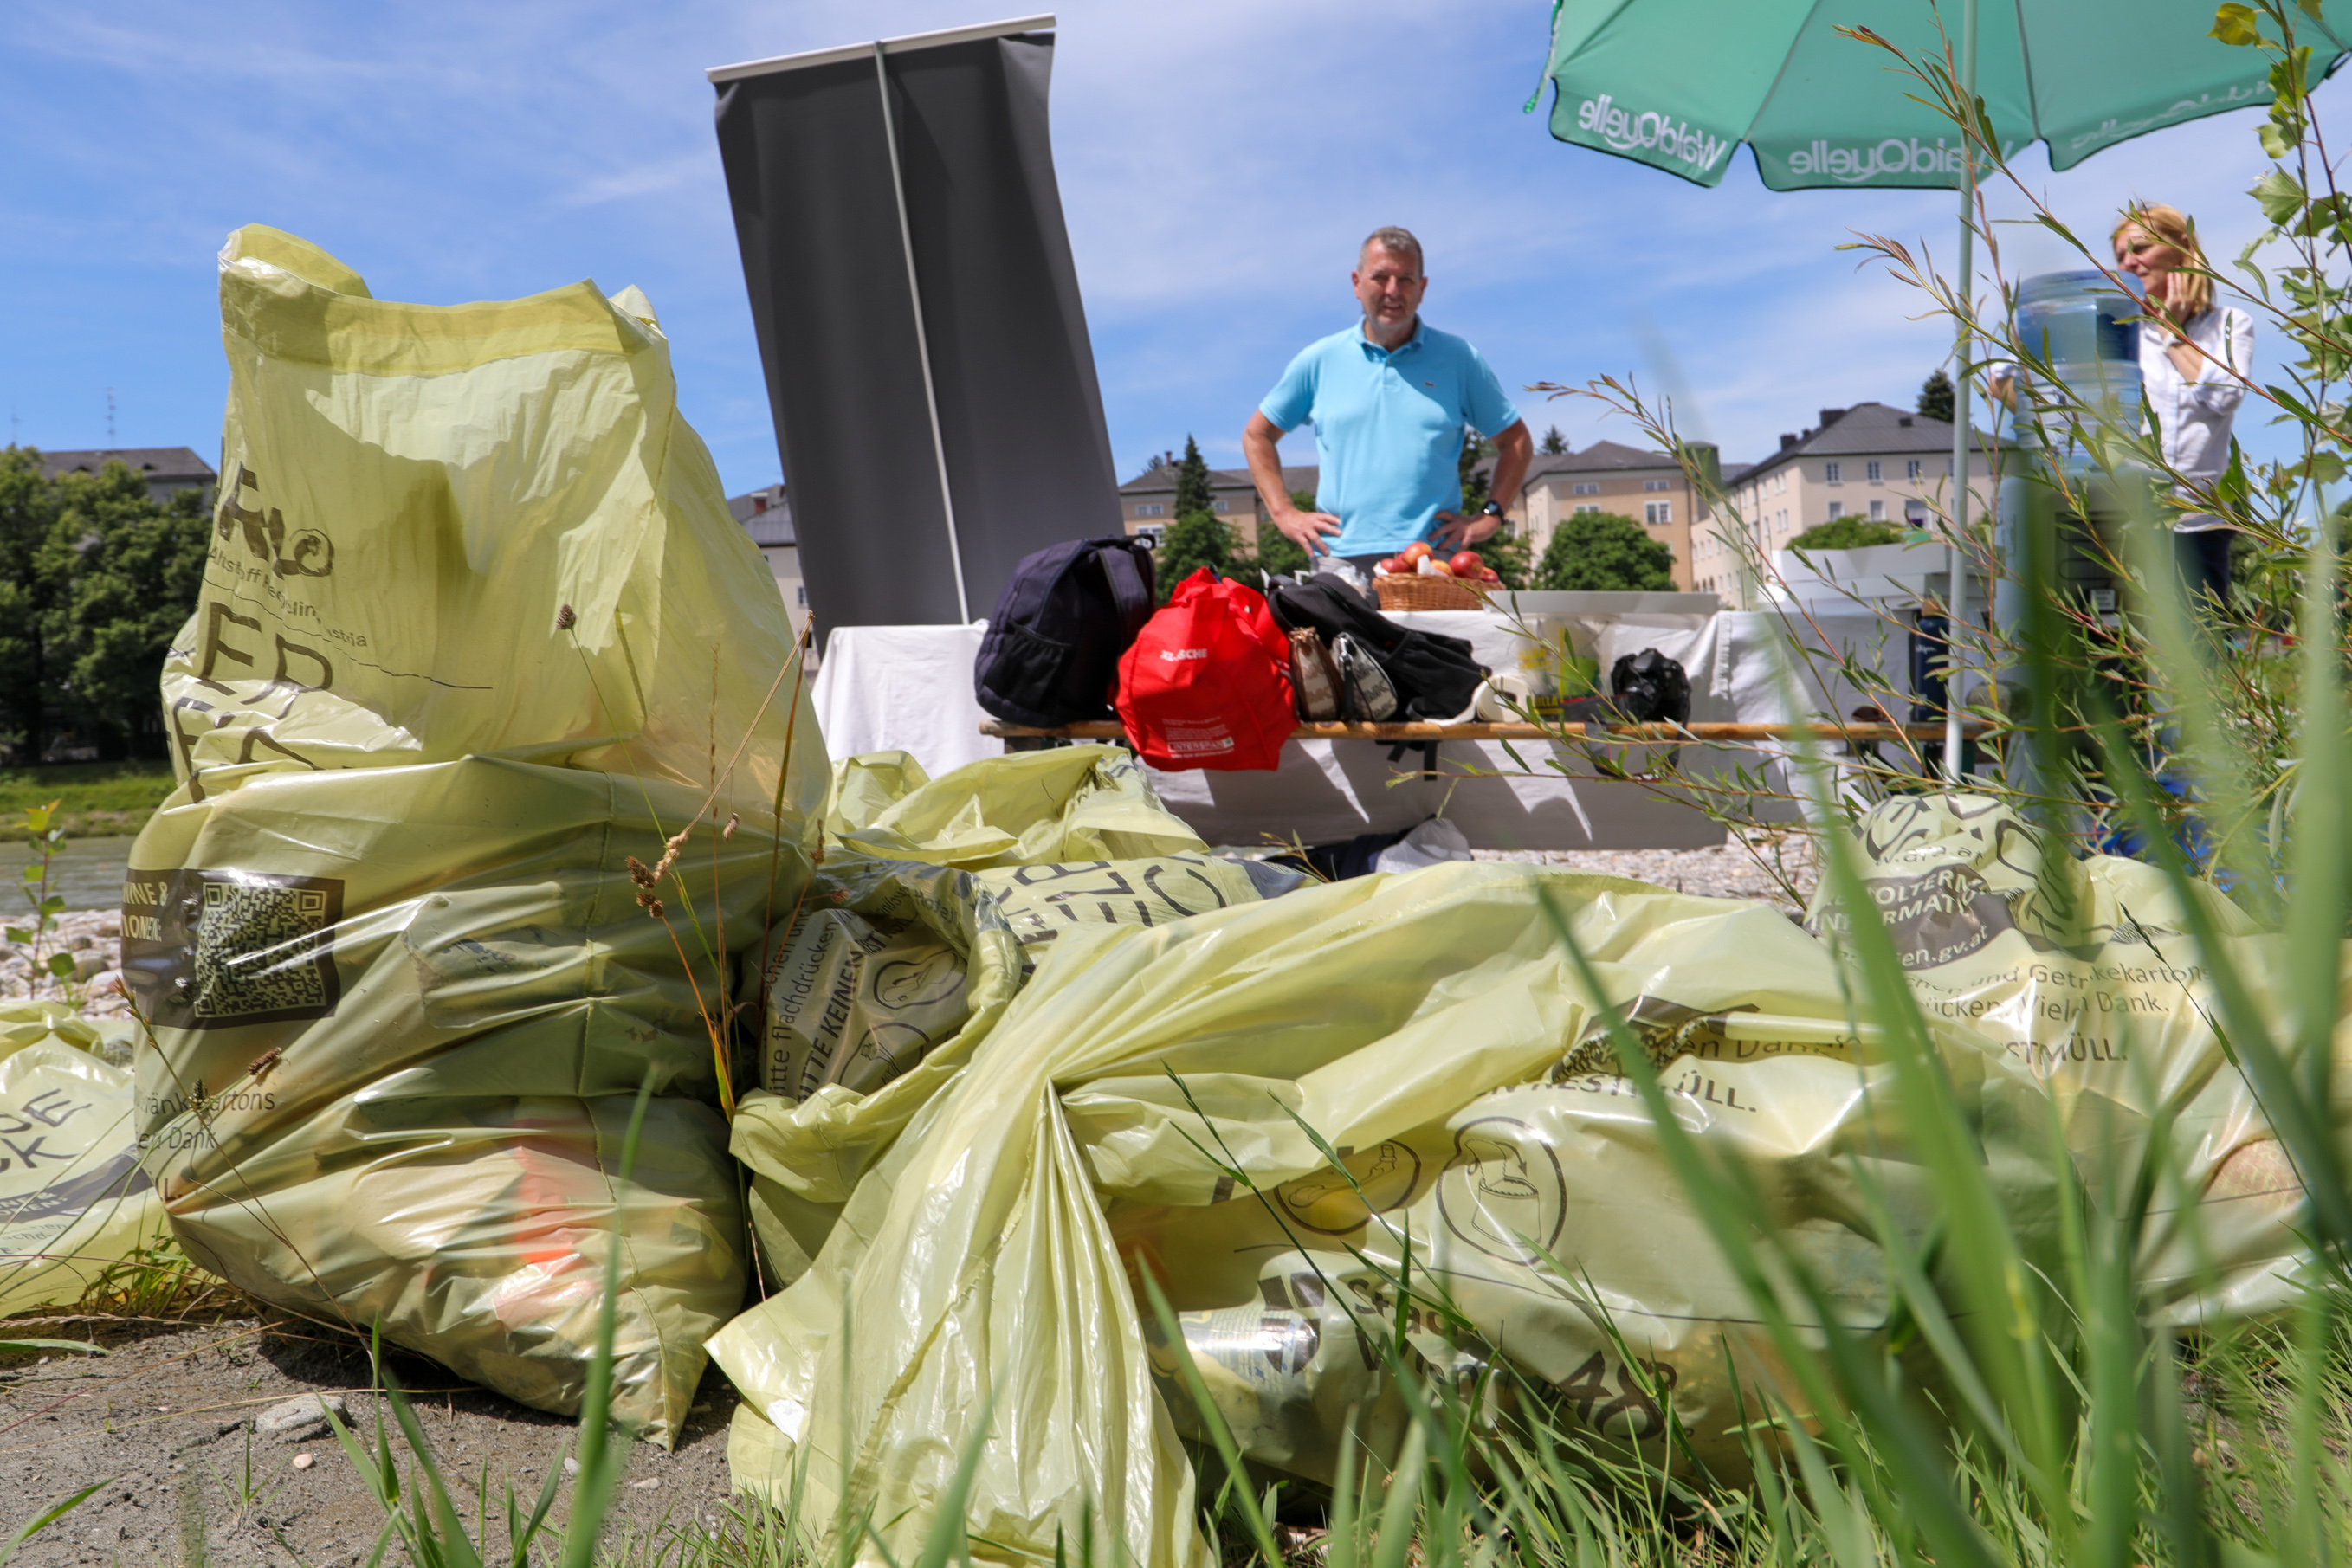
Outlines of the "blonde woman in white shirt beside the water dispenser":
[[[2190,487],[2206,487],[2230,465],[2230,423],[2246,400],[2241,376],[2253,369],[2253,317],[2213,303],[2213,277],[2197,223],[2161,202],[2133,207],[2114,226],[2114,266],[2147,292],[2140,317],[2140,386],[2164,437],[2164,463]],[[1992,395],[2011,400],[2011,374],[1992,378]],[[2230,599],[2230,541],[2234,529],[2211,512],[2173,520],[2180,581],[2192,599]]]

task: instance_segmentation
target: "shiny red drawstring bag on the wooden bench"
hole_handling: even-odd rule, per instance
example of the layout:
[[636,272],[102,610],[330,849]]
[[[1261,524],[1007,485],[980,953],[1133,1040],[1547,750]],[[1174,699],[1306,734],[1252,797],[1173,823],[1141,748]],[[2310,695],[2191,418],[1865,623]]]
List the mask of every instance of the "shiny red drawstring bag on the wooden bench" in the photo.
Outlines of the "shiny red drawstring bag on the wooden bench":
[[1164,773],[1272,769],[1298,724],[1289,665],[1265,597],[1202,567],[1120,658],[1120,722]]

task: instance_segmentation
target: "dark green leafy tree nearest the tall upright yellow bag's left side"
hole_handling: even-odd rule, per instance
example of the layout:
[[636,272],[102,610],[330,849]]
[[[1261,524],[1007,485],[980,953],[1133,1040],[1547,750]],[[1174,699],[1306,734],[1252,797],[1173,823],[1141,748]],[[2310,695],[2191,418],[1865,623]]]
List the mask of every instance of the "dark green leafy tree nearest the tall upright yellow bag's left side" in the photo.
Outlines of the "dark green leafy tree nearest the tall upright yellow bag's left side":
[[183,489],[158,503],[122,463],[66,475],[56,496],[49,644],[59,712],[106,759],[162,757],[155,672],[205,581],[202,496]]

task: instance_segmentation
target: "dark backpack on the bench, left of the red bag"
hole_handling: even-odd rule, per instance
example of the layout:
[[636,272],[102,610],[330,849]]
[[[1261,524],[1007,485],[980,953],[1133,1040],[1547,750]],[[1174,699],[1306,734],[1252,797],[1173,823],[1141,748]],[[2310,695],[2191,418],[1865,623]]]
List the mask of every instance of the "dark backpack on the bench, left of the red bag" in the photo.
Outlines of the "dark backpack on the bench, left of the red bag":
[[1141,538],[1073,538],[1023,555],[971,670],[981,708],[1037,729],[1108,719],[1120,654],[1152,618],[1152,590]]

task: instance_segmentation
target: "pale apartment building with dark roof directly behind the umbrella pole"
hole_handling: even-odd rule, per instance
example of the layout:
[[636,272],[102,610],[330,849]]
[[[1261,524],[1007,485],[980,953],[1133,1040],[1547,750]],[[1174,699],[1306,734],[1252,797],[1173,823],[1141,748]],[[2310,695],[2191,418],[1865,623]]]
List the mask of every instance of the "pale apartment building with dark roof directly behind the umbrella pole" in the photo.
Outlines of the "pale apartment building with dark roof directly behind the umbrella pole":
[[[1992,437],[1978,433],[1969,458],[1971,517],[1992,505],[1990,444]],[[1740,550],[1731,529],[1745,531],[1750,552],[1771,555],[1837,517],[1926,527],[1950,508],[1952,425],[1884,402],[1823,409],[1820,425],[1783,435],[1780,451],[1726,470],[1724,496],[1731,512],[1703,517],[1691,529],[1691,571],[1700,592],[1740,609]]]

